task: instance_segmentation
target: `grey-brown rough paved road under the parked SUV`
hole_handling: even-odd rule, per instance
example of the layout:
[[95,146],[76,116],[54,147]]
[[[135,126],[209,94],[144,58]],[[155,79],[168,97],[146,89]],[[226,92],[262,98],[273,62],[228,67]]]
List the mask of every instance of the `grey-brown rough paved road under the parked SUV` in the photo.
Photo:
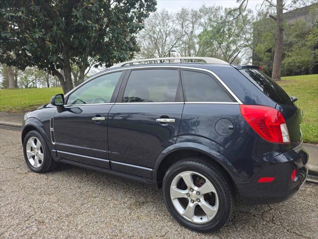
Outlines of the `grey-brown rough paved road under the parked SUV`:
[[179,226],[161,191],[119,177],[61,165],[31,172],[20,132],[0,129],[0,238],[313,238],[318,239],[318,185],[287,202],[244,206],[214,234]]

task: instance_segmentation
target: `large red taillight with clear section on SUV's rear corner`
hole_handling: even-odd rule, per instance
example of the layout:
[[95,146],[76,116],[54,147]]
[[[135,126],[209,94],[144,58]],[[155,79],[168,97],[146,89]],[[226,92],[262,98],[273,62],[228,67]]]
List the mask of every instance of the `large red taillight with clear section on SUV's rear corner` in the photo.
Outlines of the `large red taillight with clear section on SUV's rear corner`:
[[286,121],[276,109],[267,106],[240,105],[240,112],[263,139],[273,143],[290,143]]

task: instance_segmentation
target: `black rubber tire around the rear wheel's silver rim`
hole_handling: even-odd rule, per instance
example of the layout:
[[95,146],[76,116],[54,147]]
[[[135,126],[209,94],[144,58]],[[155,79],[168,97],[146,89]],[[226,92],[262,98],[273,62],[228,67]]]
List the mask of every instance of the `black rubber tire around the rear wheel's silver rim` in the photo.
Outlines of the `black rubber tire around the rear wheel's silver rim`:
[[[184,227],[201,233],[215,232],[223,227],[232,215],[235,202],[235,195],[231,181],[222,172],[218,165],[207,163],[207,160],[208,159],[201,157],[190,157],[174,163],[165,173],[162,184],[164,202],[170,214]],[[185,219],[178,213],[172,203],[170,197],[170,186],[172,180],[179,173],[185,171],[194,171],[205,176],[216,189],[219,197],[219,209],[215,217],[207,223],[196,224]]]

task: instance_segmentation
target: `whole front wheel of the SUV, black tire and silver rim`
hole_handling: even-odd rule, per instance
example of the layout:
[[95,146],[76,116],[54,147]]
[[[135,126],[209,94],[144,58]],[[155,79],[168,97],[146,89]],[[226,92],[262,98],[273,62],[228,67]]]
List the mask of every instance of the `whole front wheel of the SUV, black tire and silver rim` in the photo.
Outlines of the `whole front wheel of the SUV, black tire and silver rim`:
[[50,149],[42,135],[32,130],[25,135],[23,154],[28,167],[36,173],[45,173],[56,166]]

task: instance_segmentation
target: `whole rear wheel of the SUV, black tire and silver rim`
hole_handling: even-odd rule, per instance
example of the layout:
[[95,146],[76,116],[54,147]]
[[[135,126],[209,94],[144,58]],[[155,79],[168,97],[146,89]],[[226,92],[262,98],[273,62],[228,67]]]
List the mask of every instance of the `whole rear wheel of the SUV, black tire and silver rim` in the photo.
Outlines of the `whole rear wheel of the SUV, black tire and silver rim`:
[[224,174],[199,157],[173,164],[163,178],[164,202],[183,226],[214,232],[231,217],[234,193]]

